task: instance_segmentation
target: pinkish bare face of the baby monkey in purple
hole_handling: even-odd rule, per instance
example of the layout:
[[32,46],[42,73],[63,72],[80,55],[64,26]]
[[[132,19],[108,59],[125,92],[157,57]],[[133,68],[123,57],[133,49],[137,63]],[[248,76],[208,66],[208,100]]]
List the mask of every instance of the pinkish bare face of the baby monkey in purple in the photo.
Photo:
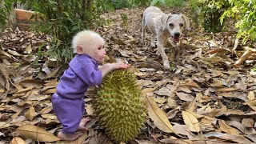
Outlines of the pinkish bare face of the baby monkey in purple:
[[104,42],[100,41],[94,45],[93,50],[91,50],[90,56],[94,58],[95,61],[102,64],[106,57],[106,51],[104,50]]

